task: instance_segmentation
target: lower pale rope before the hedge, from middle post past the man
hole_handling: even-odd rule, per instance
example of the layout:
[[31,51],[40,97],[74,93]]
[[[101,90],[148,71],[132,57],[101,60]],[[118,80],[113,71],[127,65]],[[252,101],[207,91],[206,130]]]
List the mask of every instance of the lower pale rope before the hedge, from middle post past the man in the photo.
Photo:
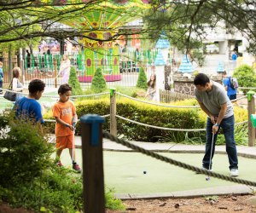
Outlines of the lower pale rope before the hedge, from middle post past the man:
[[[124,117],[119,116],[119,115],[115,115],[115,116],[116,116],[116,118],[120,118],[122,120],[131,122],[133,124],[138,124],[138,125],[142,125],[142,126],[150,127],[150,128],[154,128],[154,129],[159,129],[159,130],[186,131],[186,132],[199,132],[199,131],[206,131],[207,130],[206,128],[204,128],[204,129],[177,129],[177,128],[160,127],[160,126],[154,126],[154,125],[150,125],[150,124],[143,124],[143,123],[137,122],[135,120],[131,120],[129,118],[124,118]],[[242,121],[240,123],[236,123],[235,125],[246,124],[247,122],[248,121]]]

